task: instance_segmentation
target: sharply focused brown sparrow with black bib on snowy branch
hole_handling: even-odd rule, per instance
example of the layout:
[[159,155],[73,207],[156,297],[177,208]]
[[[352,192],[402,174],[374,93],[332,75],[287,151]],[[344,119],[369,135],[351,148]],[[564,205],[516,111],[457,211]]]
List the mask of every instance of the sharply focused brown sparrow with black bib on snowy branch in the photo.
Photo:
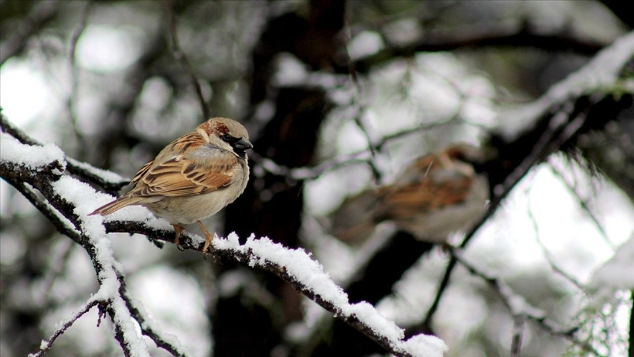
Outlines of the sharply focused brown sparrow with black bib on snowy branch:
[[213,237],[200,220],[242,194],[249,180],[245,151],[252,147],[247,130],[237,121],[209,119],[146,163],[132,179],[131,191],[90,214],[105,216],[126,206],[145,206],[172,224],[177,245],[181,224],[196,222],[205,234],[206,253]]

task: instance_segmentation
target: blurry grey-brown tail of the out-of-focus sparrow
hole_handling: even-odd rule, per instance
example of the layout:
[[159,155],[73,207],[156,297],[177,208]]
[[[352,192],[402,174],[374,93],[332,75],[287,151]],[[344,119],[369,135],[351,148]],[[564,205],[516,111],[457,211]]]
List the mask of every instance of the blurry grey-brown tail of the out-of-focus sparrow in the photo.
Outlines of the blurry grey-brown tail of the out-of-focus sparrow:
[[376,192],[363,191],[347,198],[332,215],[332,234],[348,244],[359,244],[372,236],[377,224],[374,219]]

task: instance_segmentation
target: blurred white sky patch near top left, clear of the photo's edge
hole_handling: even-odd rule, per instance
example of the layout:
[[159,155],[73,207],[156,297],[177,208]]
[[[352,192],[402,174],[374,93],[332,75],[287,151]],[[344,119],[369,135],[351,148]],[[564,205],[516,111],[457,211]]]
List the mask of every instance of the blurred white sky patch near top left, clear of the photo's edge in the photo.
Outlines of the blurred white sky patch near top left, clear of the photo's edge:
[[102,73],[126,69],[141,53],[141,36],[142,32],[133,26],[87,25],[77,41],[77,64]]

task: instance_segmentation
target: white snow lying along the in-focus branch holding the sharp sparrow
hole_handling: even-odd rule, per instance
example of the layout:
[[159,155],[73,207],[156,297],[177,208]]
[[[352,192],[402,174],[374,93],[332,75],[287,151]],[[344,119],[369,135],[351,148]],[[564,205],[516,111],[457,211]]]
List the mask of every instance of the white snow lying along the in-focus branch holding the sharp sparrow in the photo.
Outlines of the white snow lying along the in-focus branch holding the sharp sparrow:
[[[3,130],[6,127],[5,123],[6,119],[3,118]],[[74,229],[68,227],[65,231],[75,235],[79,232],[79,237],[75,237],[74,240],[88,253],[100,283],[99,291],[84,304],[84,308],[96,300],[103,302],[102,309],[108,313],[115,325],[115,338],[126,356],[149,356],[145,341],[137,333],[133,321],[139,323],[141,332],[150,337],[157,346],[174,356],[185,356],[178,342],[167,342],[168,339],[163,337],[162,332],[151,326],[152,323],[144,316],[146,314],[143,308],[136,307],[136,303],[133,304],[133,299],[126,291],[125,277],[121,273],[120,264],[113,257],[112,242],[106,236],[107,232],[130,232],[146,234],[150,238],[163,241],[173,241],[174,232],[169,224],[152,217],[142,207],[124,208],[120,211],[124,214],[115,213],[105,219],[101,216],[88,216],[94,206],[111,197],[94,191],[93,187],[84,182],[64,175],[63,167],[67,162],[63,152],[56,147],[57,150],[53,149],[51,152],[57,154],[47,156],[48,153],[39,145],[22,144],[7,133],[2,135],[0,175],[3,179],[15,187],[23,188],[28,184],[37,189],[48,202],[36,204],[35,195],[29,195],[27,199],[42,210],[56,227],[68,226],[64,221],[67,220],[74,225]],[[27,137],[20,139],[27,141]],[[4,153],[4,149],[7,149],[8,154]],[[11,154],[20,151],[30,152],[29,157],[22,158]],[[184,248],[202,250],[204,239],[192,234],[183,234],[181,244]],[[442,356],[447,349],[443,340],[431,335],[420,334],[405,339],[403,329],[367,302],[350,304],[342,288],[323,271],[320,263],[302,249],[290,249],[274,243],[269,238],[256,239],[254,236],[248,238],[246,243],[240,244],[236,234],[230,234],[226,239],[216,237],[212,241],[212,247],[214,255],[276,274],[306,297],[393,354],[433,357]],[[80,309],[79,312],[81,311]],[[73,316],[67,321],[69,325],[81,315],[76,313]],[[64,330],[65,328],[56,333],[60,335]],[[49,344],[53,340],[49,340]]]

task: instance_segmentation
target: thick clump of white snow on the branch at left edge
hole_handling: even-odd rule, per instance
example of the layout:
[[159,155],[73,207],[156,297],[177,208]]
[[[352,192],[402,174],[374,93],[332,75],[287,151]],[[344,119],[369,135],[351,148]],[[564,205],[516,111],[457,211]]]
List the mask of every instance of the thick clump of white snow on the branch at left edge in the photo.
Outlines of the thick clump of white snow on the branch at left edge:
[[65,168],[64,156],[55,144],[26,145],[8,133],[0,133],[0,161],[19,163],[34,170],[58,161]]

